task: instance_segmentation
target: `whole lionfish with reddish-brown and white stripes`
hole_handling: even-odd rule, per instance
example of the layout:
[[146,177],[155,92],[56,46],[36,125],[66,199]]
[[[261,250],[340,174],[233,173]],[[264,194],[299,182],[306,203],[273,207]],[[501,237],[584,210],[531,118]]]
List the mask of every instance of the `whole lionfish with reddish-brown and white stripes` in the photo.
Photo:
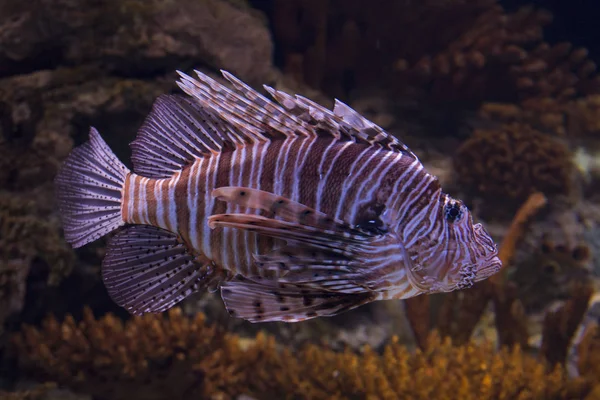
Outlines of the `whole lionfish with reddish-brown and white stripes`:
[[233,317],[298,322],[500,270],[464,202],[347,104],[177,72],[183,93],[155,100],[133,171],[91,127],[55,178],[66,241],[108,237],[102,280],[131,314],[218,291]]

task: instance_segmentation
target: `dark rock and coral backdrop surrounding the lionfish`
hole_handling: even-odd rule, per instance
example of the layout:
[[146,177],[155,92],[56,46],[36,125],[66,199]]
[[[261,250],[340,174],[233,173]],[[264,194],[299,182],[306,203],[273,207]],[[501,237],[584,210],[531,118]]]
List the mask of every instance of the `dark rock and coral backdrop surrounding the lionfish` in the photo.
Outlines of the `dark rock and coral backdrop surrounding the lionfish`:
[[[560,7],[0,2],[0,398],[600,398],[600,40],[572,22],[592,9]],[[100,280],[105,243],[64,242],[52,179],[89,126],[127,162],[192,69],[351,104],[487,223],[505,271],[299,324],[232,319],[211,294],[130,319]]]

